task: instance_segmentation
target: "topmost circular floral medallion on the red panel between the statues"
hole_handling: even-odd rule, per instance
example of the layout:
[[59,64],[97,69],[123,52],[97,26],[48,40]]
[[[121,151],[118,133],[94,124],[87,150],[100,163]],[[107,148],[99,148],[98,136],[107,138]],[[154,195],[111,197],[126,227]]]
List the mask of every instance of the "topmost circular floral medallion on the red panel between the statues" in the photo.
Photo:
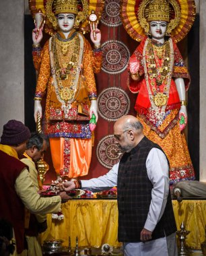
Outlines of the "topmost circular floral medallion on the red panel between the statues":
[[104,6],[101,22],[109,27],[121,26],[120,1],[106,0]]

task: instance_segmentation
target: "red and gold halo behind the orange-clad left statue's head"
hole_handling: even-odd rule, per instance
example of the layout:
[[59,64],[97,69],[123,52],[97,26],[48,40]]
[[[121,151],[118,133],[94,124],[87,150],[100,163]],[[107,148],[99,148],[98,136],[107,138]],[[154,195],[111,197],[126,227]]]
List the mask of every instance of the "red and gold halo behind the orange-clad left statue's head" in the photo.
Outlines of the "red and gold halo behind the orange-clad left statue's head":
[[[46,5],[48,2],[51,2],[51,5],[53,5],[53,2],[55,0],[28,0],[30,12],[32,14],[32,17],[34,18],[35,13],[38,11],[41,11],[44,15],[46,15]],[[52,7],[52,6],[49,6]],[[83,33],[89,32],[90,27],[87,20],[87,17],[89,13],[91,13],[92,10],[95,11],[96,15],[98,16],[98,20],[101,18],[102,10],[104,8],[104,0],[77,0],[77,7],[78,7],[78,13],[79,13],[79,30]],[[84,16],[84,17],[83,17]],[[56,31],[53,28],[52,22],[46,17],[46,24],[44,26],[44,31],[47,34],[50,34],[50,36],[53,36]]]

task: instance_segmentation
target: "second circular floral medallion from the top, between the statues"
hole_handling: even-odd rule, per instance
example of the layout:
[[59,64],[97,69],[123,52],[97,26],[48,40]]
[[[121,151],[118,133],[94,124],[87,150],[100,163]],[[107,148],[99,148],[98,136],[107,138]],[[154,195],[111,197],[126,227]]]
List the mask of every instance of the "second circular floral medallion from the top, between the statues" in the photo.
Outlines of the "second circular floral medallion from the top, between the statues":
[[102,70],[112,75],[122,73],[127,68],[130,53],[123,42],[110,40],[102,44]]

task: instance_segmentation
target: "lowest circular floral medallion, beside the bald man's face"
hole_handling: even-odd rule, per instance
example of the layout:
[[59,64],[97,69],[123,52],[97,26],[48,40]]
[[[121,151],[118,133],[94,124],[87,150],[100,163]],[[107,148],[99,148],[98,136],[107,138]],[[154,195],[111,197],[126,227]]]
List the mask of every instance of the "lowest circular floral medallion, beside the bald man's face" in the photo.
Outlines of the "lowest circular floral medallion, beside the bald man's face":
[[100,140],[96,148],[96,156],[100,164],[108,169],[118,163],[122,154],[119,152],[113,135],[108,135]]

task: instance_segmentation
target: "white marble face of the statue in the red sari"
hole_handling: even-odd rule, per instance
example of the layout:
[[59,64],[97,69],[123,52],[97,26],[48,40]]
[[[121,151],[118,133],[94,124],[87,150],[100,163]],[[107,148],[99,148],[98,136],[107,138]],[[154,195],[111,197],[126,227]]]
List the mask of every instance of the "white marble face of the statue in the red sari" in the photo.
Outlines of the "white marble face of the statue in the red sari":
[[151,37],[156,40],[164,38],[167,30],[166,22],[153,21],[149,23],[149,30],[151,32]]

